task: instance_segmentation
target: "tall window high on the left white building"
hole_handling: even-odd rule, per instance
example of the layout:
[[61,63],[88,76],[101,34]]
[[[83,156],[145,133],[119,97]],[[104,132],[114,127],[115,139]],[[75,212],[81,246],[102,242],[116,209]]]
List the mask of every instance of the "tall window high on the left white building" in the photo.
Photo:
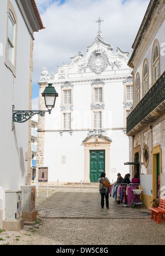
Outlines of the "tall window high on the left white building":
[[8,16],[8,39],[7,39],[7,57],[14,65],[15,55],[15,18],[11,10]]

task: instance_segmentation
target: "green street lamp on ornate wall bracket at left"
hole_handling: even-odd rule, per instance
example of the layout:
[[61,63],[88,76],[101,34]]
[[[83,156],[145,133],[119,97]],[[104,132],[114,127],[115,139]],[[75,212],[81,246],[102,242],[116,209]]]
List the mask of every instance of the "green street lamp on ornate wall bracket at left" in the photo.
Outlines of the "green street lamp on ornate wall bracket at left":
[[58,97],[58,93],[55,88],[52,86],[52,83],[48,83],[48,86],[42,93],[42,96],[45,98],[45,105],[48,110],[39,110],[39,111],[29,111],[29,110],[14,110],[13,105],[13,122],[26,122],[32,116],[39,114],[41,116],[45,116],[45,113],[48,112],[51,114],[52,108],[54,108],[56,97]]

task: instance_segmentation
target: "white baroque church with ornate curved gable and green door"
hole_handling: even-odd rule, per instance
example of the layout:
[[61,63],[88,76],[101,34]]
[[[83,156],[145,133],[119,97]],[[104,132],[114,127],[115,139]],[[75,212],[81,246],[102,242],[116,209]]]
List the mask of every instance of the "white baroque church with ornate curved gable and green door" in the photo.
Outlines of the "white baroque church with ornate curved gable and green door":
[[118,172],[123,178],[129,173],[124,165],[130,151],[126,118],[133,100],[128,56],[119,47],[113,53],[98,31],[86,56],[78,52],[70,65],[64,63],[54,73],[42,69],[39,110],[45,109],[41,93],[47,84],[58,93],[51,115],[38,116],[36,167],[48,168],[48,182],[96,183],[101,172],[115,182]]

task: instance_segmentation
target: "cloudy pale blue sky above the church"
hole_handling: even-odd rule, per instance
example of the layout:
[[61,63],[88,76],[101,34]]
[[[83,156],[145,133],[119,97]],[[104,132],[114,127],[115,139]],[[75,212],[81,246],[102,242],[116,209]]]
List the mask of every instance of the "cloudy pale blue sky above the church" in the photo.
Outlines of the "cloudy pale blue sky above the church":
[[32,108],[37,108],[38,82],[41,70],[55,72],[79,51],[86,55],[86,47],[95,40],[98,17],[101,36],[113,46],[129,51],[150,0],[35,0],[43,26],[34,34],[34,71]]

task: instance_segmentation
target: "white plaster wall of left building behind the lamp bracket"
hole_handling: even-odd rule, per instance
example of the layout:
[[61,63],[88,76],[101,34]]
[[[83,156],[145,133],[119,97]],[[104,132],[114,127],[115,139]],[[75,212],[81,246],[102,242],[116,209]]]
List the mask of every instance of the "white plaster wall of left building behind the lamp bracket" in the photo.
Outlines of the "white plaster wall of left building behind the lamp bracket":
[[[14,104],[15,110],[28,109],[29,95],[29,56],[30,35],[20,15],[17,4],[11,1],[18,19],[17,31],[17,64],[16,78],[4,65],[5,39],[7,33],[7,1],[3,1],[0,8],[0,42],[3,44],[3,56],[0,56],[0,80],[1,80],[1,179],[0,179],[0,210],[4,220],[4,191],[7,189],[20,189],[25,184],[27,175],[27,123],[15,124],[12,131],[12,104],[13,104],[13,80],[14,80]],[[3,145],[3,146],[2,146]],[[0,221],[0,228],[2,222]]]

